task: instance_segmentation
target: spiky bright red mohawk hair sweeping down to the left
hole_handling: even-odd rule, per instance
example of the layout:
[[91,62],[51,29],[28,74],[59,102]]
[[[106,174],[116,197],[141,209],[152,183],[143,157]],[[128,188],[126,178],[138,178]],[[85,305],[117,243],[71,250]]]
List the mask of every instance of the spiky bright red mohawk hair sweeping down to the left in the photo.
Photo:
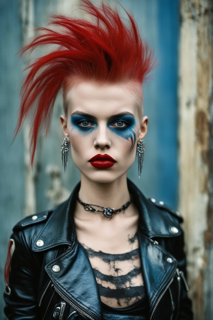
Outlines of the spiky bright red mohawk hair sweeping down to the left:
[[[81,0],[81,7],[95,18],[96,23],[73,17],[53,15],[54,30],[37,28],[37,36],[20,50],[20,55],[32,52],[40,45],[57,44],[57,50],[36,59],[22,85],[19,119],[14,139],[26,116],[34,107],[31,127],[31,165],[40,126],[49,130],[54,102],[67,79],[72,76],[100,83],[134,81],[142,84],[153,68],[153,54],[141,40],[133,16],[127,12],[125,25],[116,9],[102,3],[96,7],[89,0]],[[27,69],[28,69],[27,68]],[[36,103],[35,103],[36,102]]]

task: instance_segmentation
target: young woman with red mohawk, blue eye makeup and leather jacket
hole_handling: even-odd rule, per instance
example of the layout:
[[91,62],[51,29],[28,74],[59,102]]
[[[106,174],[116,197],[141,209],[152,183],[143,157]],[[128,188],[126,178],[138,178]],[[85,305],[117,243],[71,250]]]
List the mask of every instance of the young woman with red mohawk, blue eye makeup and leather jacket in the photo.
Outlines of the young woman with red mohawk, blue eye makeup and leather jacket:
[[55,16],[21,53],[57,44],[34,61],[22,87],[16,133],[34,106],[32,164],[38,129],[48,129],[63,89],[60,116],[67,154],[81,180],[67,201],[13,228],[5,265],[5,315],[18,319],[191,320],[178,212],[147,199],[127,179],[142,170],[148,117],[141,84],[152,53],[129,14],[125,25],[107,4],[88,0],[94,21]]

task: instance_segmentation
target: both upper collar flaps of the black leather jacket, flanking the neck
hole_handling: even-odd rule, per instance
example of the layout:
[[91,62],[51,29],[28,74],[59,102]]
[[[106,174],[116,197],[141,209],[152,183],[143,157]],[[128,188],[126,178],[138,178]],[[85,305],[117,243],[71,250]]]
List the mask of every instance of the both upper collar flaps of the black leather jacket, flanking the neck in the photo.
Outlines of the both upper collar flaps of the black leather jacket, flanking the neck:
[[[172,219],[168,212],[166,214],[165,211],[156,207],[128,178],[127,186],[133,196],[133,202],[139,211],[139,230],[144,236],[152,238],[180,235],[180,230],[175,235],[171,233],[171,227],[178,227],[178,225],[177,221]],[[73,212],[79,190],[80,182],[73,189],[69,199],[53,209],[49,219],[32,244],[33,251],[44,251],[60,244],[72,245],[76,238]],[[39,239],[42,239],[44,242],[42,247],[36,245]]]

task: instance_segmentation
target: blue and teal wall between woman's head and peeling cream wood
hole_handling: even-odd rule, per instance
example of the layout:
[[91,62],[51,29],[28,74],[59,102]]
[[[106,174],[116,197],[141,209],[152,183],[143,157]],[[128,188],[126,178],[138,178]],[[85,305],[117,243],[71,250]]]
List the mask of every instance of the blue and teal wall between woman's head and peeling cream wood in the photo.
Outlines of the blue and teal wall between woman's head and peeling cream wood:
[[178,1],[122,0],[121,4],[133,12],[158,62],[151,82],[144,85],[144,115],[149,125],[142,177],[138,181],[136,163],[128,176],[146,196],[177,207]]

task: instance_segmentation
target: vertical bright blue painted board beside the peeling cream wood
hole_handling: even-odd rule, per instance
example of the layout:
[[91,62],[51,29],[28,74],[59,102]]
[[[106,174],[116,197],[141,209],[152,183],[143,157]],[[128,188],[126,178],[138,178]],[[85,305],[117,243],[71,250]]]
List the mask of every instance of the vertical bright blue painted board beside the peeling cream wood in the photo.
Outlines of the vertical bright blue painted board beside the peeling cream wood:
[[178,73],[178,1],[160,1],[158,6],[159,73],[156,111],[158,146],[157,195],[177,206],[178,139],[177,139],[177,73]]

